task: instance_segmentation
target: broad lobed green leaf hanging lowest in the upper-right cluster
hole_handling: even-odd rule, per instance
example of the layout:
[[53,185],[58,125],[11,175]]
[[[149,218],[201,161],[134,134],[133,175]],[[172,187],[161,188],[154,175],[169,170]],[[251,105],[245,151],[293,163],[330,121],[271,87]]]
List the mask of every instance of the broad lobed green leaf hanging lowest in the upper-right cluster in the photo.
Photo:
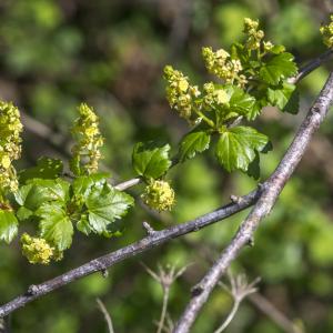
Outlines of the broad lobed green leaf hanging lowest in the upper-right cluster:
[[226,171],[248,171],[249,164],[255,158],[255,151],[263,150],[268,141],[266,135],[252,128],[236,127],[221,134],[215,153]]

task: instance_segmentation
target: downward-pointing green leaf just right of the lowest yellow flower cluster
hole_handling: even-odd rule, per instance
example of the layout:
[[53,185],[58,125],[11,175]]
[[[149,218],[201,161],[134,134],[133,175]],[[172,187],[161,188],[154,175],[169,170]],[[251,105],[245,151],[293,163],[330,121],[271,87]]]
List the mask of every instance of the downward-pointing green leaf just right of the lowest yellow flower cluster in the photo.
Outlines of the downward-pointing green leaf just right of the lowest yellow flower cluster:
[[36,214],[39,222],[40,235],[57,246],[59,251],[70,248],[73,236],[73,225],[64,211],[62,202],[43,204]]

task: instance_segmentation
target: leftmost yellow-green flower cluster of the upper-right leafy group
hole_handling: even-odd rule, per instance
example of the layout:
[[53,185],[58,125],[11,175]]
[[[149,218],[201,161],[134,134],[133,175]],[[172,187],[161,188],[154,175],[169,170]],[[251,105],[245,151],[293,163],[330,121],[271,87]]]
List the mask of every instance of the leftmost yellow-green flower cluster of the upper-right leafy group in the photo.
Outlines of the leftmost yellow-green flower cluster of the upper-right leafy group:
[[188,77],[171,65],[165,65],[164,78],[168,81],[167,99],[170,107],[176,110],[181,118],[191,122],[193,103],[200,95],[198,87],[191,85]]

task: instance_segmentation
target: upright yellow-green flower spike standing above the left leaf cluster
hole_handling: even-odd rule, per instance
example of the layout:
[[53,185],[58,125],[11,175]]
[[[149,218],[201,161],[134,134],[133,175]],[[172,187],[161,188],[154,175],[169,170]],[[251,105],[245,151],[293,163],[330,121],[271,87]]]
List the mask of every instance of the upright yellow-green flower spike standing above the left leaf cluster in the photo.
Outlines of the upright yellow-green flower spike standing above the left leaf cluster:
[[91,174],[98,171],[103,138],[99,130],[99,119],[93,110],[82,103],[78,111],[80,117],[72,128],[77,144],[72,148],[70,168],[75,175]]

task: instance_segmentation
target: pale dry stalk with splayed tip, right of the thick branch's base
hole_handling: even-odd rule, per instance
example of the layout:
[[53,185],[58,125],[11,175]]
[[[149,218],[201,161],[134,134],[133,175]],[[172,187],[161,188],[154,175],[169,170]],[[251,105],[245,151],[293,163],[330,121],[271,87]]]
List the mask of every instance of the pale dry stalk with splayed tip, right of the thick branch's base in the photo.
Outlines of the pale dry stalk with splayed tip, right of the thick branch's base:
[[228,293],[233,299],[233,306],[231,309],[231,312],[229,313],[225,321],[220,325],[218,330],[214,331],[214,333],[221,333],[223,332],[231,321],[234,319],[236,312],[239,311],[240,304],[242,301],[256,292],[255,284],[260,281],[260,279],[255,279],[250,284],[248,284],[246,276],[244,274],[239,274],[236,276],[233,276],[231,272],[229,272],[229,281],[230,281],[230,287],[225,284],[220,282],[220,285],[228,291]]

